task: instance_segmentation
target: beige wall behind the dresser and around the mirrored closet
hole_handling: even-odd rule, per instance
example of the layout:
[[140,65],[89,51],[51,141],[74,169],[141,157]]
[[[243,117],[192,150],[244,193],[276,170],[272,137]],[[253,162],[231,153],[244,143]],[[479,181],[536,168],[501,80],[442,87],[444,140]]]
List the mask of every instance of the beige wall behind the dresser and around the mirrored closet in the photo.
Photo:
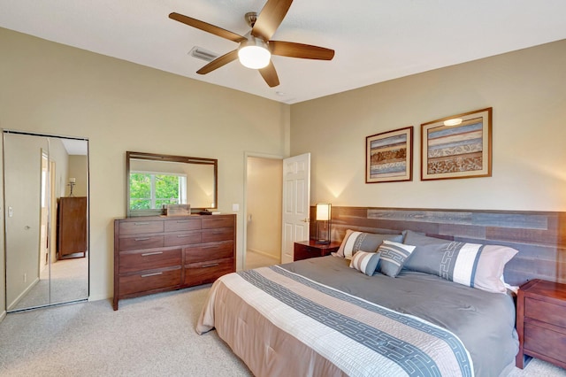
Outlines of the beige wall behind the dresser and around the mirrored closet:
[[126,150],[218,158],[225,213],[243,204],[246,151],[288,155],[287,104],[2,28],[0,50],[0,127],[89,139],[91,299],[112,296]]

